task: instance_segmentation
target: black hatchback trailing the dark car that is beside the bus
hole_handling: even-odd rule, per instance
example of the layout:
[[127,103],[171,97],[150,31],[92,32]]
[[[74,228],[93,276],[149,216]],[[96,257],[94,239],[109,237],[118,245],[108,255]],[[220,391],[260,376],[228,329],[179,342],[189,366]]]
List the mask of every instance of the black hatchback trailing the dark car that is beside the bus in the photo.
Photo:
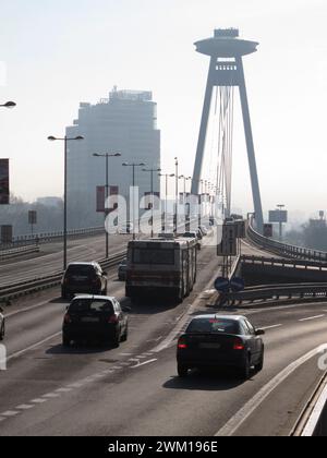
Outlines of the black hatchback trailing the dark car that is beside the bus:
[[71,341],[104,341],[119,347],[128,339],[129,320],[116,298],[102,296],[80,296],[66,309],[62,324],[62,345]]

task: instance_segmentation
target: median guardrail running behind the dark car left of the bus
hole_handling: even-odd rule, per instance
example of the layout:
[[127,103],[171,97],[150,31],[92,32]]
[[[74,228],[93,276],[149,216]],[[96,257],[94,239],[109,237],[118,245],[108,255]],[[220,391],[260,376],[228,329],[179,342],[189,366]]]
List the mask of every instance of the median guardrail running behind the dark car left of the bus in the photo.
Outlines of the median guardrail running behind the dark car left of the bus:
[[[124,257],[126,252],[112,255],[109,260],[101,260],[99,264],[102,268],[116,267]],[[60,285],[63,272],[56,272],[46,277],[34,278],[32,280],[21,281],[19,284],[10,284],[0,287],[0,302],[10,302],[22,296],[38,292],[44,289],[52,288]]]

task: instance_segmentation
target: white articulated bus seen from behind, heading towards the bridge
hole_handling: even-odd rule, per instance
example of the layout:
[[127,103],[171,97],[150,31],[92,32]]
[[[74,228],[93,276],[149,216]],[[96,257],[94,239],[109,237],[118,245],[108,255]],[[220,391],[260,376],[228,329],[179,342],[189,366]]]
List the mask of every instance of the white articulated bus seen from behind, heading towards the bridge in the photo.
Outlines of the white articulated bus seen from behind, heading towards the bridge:
[[129,243],[126,297],[165,296],[182,302],[196,281],[197,240],[138,240]]

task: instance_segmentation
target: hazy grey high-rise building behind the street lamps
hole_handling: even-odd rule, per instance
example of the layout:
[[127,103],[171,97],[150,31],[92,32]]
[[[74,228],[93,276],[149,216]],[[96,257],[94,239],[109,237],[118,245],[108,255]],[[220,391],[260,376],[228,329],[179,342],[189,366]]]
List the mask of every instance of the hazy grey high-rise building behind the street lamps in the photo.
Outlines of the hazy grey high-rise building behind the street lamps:
[[[157,104],[150,92],[113,91],[98,104],[81,104],[78,119],[66,128],[66,135],[83,135],[82,142],[69,142],[68,208],[69,227],[100,226],[104,215],[97,213],[97,186],[106,184],[105,158],[97,154],[120,153],[109,159],[109,185],[128,198],[132,170],[122,162],[144,162],[160,167],[160,131],[157,129]],[[150,192],[149,173],[136,169],[140,196]],[[160,180],[154,174],[154,192],[160,192]]]

